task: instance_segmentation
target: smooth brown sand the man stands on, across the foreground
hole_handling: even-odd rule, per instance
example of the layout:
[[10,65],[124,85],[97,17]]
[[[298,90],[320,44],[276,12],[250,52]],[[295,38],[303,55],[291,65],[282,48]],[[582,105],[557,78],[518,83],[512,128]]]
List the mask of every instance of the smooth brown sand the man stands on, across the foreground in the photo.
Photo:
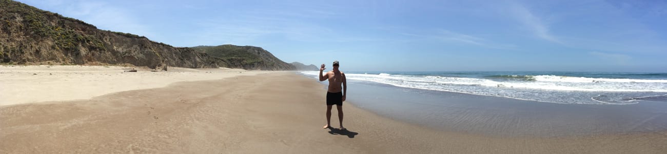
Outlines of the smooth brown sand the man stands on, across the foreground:
[[[350,103],[344,103],[348,131],[321,129],[324,97],[317,81],[288,72],[178,82],[87,100],[5,105],[0,107],[0,153],[667,151],[662,134],[488,137],[394,121]],[[334,109],[334,127],[336,116]]]

